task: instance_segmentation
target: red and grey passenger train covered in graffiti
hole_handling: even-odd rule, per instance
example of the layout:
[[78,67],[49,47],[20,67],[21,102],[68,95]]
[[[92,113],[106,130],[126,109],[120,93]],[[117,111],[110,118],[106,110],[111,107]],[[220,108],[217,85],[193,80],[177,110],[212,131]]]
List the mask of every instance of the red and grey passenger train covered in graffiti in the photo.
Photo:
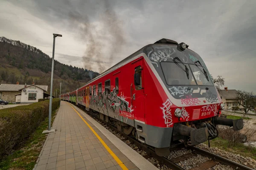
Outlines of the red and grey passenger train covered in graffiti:
[[146,45],[61,99],[99,113],[160,156],[177,141],[217,137],[215,125],[243,128],[242,119],[219,116],[224,105],[203,59],[168,39]]

